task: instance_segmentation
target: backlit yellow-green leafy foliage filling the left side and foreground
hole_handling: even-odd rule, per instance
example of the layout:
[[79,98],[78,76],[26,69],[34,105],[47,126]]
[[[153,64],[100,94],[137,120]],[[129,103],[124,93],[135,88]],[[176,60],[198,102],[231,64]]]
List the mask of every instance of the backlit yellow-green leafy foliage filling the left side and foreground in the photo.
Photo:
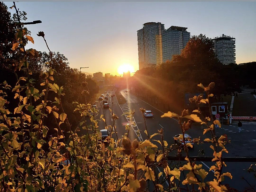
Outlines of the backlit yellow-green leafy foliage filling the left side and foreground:
[[[14,8],[17,10],[15,3]],[[20,21],[19,17],[18,20]],[[37,35],[46,43],[44,32]],[[222,167],[226,166],[221,159],[222,153],[228,151],[224,146],[225,137],[217,138],[215,135],[214,125],[221,126],[218,120],[212,122],[210,117],[200,119],[196,115],[201,113],[200,109],[194,111],[196,114],[189,114],[188,110],[183,110],[181,115],[169,111],[162,116],[178,119],[183,134],[176,138],[177,140],[183,140],[184,133],[191,127],[192,122],[204,124],[204,133],[211,133],[212,138],[207,138],[204,142],[212,143],[212,161],[216,164],[212,165],[210,170],[215,171],[215,179],[205,182],[208,172],[202,169],[201,164],[195,164],[189,158],[188,147],[193,147],[190,143],[174,148],[163,140],[162,129],[150,135],[147,127],[147,140],[131,141],[129,132],[134,124],[134,112],[125,114],[130,122],[125,126],[127,133],[121,140],[117,137],[118,128],[115,127],[118,116],[111,110],[113,126],[106,124],[110,136],[104,141],[101,140],[99,129],[102,128],[98,126],[99,120],[94,119],[98,110],[92,108],[88,97],[86,102],[81,99],[80,94],[72,92],[73,87],[77,90],[80,90],[79,86],[87,87],[84,92],[88,92],[84,94],[91,95],[90,91],[97,91],[93,81],[79,81],[80,74],[77,70],[69,68],[67,59],[58,52],[51,52],[47,44],[49,54],[32,49],[26,50],[27,41],[34,43],[26,28],[20,26],[15,37],[16,40],[12,42],[13,54],[22,55],[20,60],[13,63],[12,73],[16,82],[12,81],[11,86],[4,81],[0,90],[1,191],[135,192],[152,188],[154,191],[177,192],[227,189],[221,182],[224,177],[232,176],[228,172],[222,172]],[[43,62],[41,64],[44,67],[40,62]],[[40,67],[42,68],[39,70]],[[37,75],[35,79],[32,78],[34,73]],[[76,81],[83,82],[84,85],[77,85]],[[210,92],[215,84],[197,86],[207,92],[207,99],[198,96],[191,98],[191,102],[209,103],[209,98],[213,96]],[[66,90],[71,96],[64,94]],[[72,115],[67,112],[71,108],[68,108],[68,104],[72,100],[77,100],[73,102],[75,107],[72,111],[79,114],[74,117],[79,124],[73,126],[73,129],[70,121]],[[94,111],[93,115],[89,113],[90,109]],[[141,108],[141,112],[145,112],[145,109]],[[88,115],[91,121],[85,120]],[[104,115],[100,118],[105,121]],[[64,129],[67,129],[68,135],[64,134]],[[77,135],[80,129],[86,134]],[[114,135],[117,140],[113,139]],[[162,138],[155,140],[161,146],[157,151],[157,146],[152,143],[156,135]],[[199,144],[203,141],[195,138],[193,142]],[[187,154],[187,162],[171,167],[166,156],[172,150],[178,150],[180,153],[181,148],[184,148]],[[180,174],[186,175],[184,180],[181,180]],[[164,188],[164,182],[168,183],[167,188]],[[181,183],[187,188],[181,188]],[[189,188],[190,185],[192,188]]]

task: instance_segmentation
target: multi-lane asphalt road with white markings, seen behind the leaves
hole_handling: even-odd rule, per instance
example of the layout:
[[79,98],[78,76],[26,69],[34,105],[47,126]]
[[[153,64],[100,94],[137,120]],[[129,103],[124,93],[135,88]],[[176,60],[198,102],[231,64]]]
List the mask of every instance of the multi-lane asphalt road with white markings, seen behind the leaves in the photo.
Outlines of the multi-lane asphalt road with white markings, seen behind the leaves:
[[[111,92],[109,95],[114,94],[115,92]],[[157,133],[157,130],[160,130],[161,128],[163,128],[164,130],[164,140],[166,140],[168,142],[169,145],[171,144],[175,144],[174,140],[173,140],[173,136],[176,134],[181,133],[181,129],[180,129],[180,125],[178,124],[178,121],[176,119],[172,119],[172,118],[161,118],[161,115],[163,115],[162,111],[159,111],[158,109],[152,107],[151,105],[149,105],[148,103],[140,100],[139,98],[135,97],[134,95],[130,94],[129,92],[125,92],[124,90],[120,92],[124,98],[127,100],[127,103],[124,105],[118,105],[116,97],[113,97],[113,106],[112,106],[112,98],[109,97],[108,99],[108,103],[110,103],[110,108],[113,108],[113,112],[115,114],[117,114],[117,116],[119,116],[119,119],[116,121],[116,130],[117,130],[117,135],[118,138],[121,138],[122,135],[124,135],[124,133],[126,133],[127,131],[125,130],[125,124],[128,123],[128,120],[126,119],[126,117],[122,114],[124,112],[128,112],[130,110],[135,110],[135,114],[134,114],[134,121],[136,126],[133,127],[133,129],[131,129],[130,133],[129,133],[129,138],[131,140],[137,139],[139,141],[143,141],[148,139],[147,135],[145,134],[145,124],[144,124],[144,118],[142,113],[140,112],[140,108],[145,108],[146,110],[151,110],[154,114],[154,117],[150,117],[150,118],[146,118],[146,126],[148,129],[148,135],[152,135],[154,133]],[[106,94],[105,94],[106,95]],[[111,118],[111,113],[110,110],[108,108],[102,108],[99,103],[97,104],[98,109],[99,109],[99,115],[96,116],[96,119],[100,118],[100,115],[103,114],[105,115],[105,119],[106,119],[106,124],[107,125],[111,125],[113,126],[113,121]],[[165,111],[167,112],[167,111]],[[99,122],[99,127],[100,129],[103,129],[106,124],[101,120]],[[137,130],[140,130],[140,134],[139,136],[137,136],[137,133],[139,133]],[[223,156],[243,156],[243,157],[248,157],[248,156],[253,156],[255,154],[255,150],[256,150],[256,140],[255,142],[251,142],[252,140],[252,136],[250,137],[250,141],[247,141],[247,137],[242,135],[237,135],[232,134],[228,131],[228,129],[218,129],[217,131],[217,136],[218,134],[228,134],[229,139],[234,139],[234,142],[231,142],[230,144],[226,145],[227,150],[229,151],[228,154],[223,154]],[[203,128],[200,126],[192,126],[191,129],[189,129],[186,133],[188,133],[192,138],[198,138],[199,136],[201,137],[201,140],[204,140],[205,138],[211,138],[210,133],[206,133],[205,135],[203,135]],[[240,133],[239,133],[240,134]],[[116,139],[115,135],[112,135],[114,139]],[[249,137],[249,136],[248,136]],[[241,140],[241,138],[243,138]],[[156,135],[154,138],[154,140],[161,140],[159,135]],[[239,140],[240,139],[240,140]],[[238,141],[239,140],[239,141]],[[156,144],[159,148],[160,145],[159,143],[154,142],[154,144]],[[246,144],[246,145],[250,145],[250,148],[245,149],[244,145],[241,146],[241,143]],[[212,156],[212,149],[209,148],[210,144],[204,143],[204,144],[199,144],[194,146],[194,149],[189,150],[189,155],[190,156],[198,156],[198,151],[200,149],[204,149],[204,156]],[[161,148],[160,148],[161,149]],[[177,150],[172,151],[169,156],[176,156],[177,154]],[[185,152],[182,152],[183,156],[186,156]],[[202,155],[201,155],[202,156]],[[171,163],[171,162],[170,162]],[[175,162],[177,163],[177,162]],[[185,163],[185,162],[182,162]],[[212,162],[197,162],[197,164],[203,164],[203,169],[205,169],[206,171],[209,171],[209,168],[213,165]],[[244,191],[244,187],[248,186],[246,184],[246,182],[244,180],[241,179],[241,177],[246,178],[246,180],[250,183],[250,184],[254,184],[256,183],[256,180],[253,178],[252,173],[249,174],[248,172],[246,172],[245,170],[253,163],[230,163],[230,162],[226,162],[227,167],[223,168],[223,172],[230,172],[233,175],[233,179],[229,179],[228,177],[225,177],[225,181],[223,181],[222,183],[225,184],[229,184],[230,187],[232,188],[236,188],[237,190],[240,191]],[[254,163],[255,164],[255,163]],[[174,164],[170,164],[170,166],[173,166]],[[163,171],[163,170],[159,170],[159,171]],[[182,174],[181,174],[182,177]],[[213,180],[214,177],[214,173],[211,171],[208,173],[206,179],[204,181],[207,180]],[[182,180],[182,178],[181,178]],[[165,183],[165,186],[167,187],[167,184]]]

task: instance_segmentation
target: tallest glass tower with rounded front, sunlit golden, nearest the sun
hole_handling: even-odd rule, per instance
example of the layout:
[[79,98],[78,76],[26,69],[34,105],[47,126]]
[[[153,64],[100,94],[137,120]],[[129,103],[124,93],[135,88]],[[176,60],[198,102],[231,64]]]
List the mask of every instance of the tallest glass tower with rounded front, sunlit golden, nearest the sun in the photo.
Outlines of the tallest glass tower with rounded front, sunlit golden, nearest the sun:
[[148,22],[137,31],[139,69],[163,63],[162,31],[164,24]]

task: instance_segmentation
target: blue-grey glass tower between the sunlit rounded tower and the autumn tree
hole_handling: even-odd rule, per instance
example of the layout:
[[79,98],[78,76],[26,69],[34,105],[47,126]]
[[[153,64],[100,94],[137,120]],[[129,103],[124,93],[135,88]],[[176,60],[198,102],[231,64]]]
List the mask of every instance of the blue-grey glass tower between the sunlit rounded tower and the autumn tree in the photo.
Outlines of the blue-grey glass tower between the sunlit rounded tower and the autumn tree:
[[172,60],[172,55],[178,55],[185,48],[189,39],[190,32],[186,27],[171,26],[165,29],[163,36],[163,62]]

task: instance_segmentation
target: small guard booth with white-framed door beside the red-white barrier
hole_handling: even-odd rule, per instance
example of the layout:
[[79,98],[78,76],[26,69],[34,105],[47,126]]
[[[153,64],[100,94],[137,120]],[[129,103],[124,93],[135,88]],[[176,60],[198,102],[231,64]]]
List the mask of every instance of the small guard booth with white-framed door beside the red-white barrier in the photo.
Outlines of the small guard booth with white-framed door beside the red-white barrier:
[[212,103],[212,115],[214,119],[222,120],[222,118],[227,118],[226,114],[228,114],[228,102]]

